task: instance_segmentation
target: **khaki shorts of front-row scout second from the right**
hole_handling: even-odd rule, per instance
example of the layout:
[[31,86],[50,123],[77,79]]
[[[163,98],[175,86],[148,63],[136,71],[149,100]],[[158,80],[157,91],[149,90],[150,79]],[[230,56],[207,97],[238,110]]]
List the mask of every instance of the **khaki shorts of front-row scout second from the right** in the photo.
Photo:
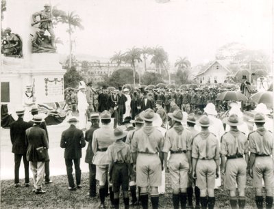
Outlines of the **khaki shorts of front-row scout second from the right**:
[[245,189],[247,182],[247,163],[245,158],[229,159],[225,163],[225,189]]

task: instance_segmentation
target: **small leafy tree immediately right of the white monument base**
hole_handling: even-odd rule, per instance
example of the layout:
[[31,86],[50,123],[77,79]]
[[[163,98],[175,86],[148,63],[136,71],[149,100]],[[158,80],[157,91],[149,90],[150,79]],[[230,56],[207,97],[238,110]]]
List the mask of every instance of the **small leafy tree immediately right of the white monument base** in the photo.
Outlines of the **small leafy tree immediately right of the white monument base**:
[[64,88],[67,87],[77,87],[79,81],[84,80],[84,78],[77,72],[75,66],[71,67],[69,70],[66,70],[64,74]]

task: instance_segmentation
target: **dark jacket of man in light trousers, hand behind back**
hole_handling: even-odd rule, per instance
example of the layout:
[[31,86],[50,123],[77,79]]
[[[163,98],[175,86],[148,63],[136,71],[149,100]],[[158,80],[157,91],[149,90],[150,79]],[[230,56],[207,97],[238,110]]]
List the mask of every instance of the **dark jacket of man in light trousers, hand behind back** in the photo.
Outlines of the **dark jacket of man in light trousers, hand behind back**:
[[[44,147],[49,149],[49,143],[47,142],[47,135],[45,130],[38,125],[34,125],[26,130],[26,143],[27,143],[27,161],[31,162],[43,162],[49,160],[49,154],[47,158],[41,159],[38,157],[36,148]],[[47,153],[47,150],[45,150]]]

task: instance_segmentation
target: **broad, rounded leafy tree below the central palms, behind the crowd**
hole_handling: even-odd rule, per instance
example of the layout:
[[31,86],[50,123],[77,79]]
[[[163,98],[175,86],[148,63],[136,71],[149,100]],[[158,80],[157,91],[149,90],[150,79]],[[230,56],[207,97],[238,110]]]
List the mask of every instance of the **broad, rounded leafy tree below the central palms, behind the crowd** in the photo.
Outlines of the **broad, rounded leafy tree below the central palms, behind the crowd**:
[[134,79],[133,72],[134,71],[131,68],[123,68],[114,71],[108,80],[108,85],[119,87],[125,85],[126,83],[132,83],[132,80]]

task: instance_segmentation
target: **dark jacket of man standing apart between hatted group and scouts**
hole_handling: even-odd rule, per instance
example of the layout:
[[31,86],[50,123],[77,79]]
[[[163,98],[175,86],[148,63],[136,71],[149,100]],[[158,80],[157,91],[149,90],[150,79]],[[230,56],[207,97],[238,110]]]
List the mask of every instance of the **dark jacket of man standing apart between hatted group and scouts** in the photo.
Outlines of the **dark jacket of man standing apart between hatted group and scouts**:
[[82,158],[82,148],[86,145],[84,134],[74,125],[62,133],[60,147],[64,148],[64,158],[76,159]]

